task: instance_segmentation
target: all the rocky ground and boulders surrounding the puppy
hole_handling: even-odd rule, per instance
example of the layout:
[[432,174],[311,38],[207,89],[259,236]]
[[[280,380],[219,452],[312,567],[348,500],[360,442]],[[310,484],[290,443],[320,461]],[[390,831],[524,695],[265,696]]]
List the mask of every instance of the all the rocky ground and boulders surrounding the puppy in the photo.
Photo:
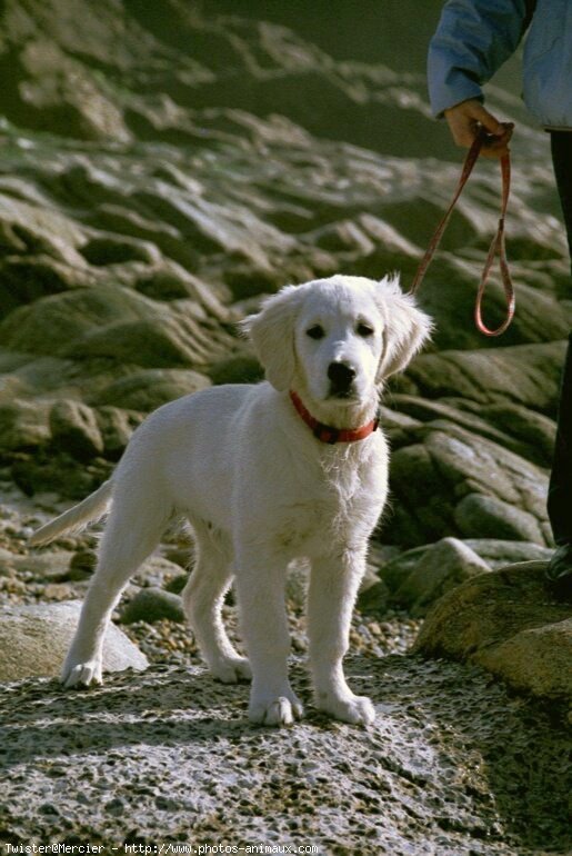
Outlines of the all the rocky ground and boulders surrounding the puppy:
[[[108,666],[148,671],[72,696],[30,677],[56,674],[97,547],[88,532],[32,554],[32,529],[100,484],[157,406],[260,379],[234,324],[264,293],[337,271],[398,269],[407,287],[452,193],[459,155],[424,83],[440,3],[363,0],[359,22],[321,7],[0,9],[2,843],[572,849],[572,607],[542,583],[572,291],[546,138],[510,69],[488,97],[518,126],[515,320],[500,339],[472,325],[500,193],[483,163],[420,295],[433,342],[383,399],[392,501],[351,661],[375,726],[311,705],[288,733],[245,725],[245,688],[210,681],[181,623],[183,530],[116,615]],[[294,569],[289,607],[308,697],[303,580]]]

